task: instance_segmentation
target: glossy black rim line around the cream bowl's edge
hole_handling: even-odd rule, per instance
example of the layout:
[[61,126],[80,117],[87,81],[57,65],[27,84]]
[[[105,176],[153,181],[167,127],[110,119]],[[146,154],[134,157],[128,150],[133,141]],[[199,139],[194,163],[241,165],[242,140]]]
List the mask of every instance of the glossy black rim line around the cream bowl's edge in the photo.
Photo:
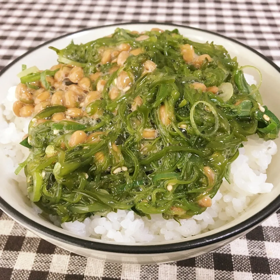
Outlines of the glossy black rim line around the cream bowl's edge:
[[[219,36],[221,38],[227,39],[229,41],[232,41],[234,43],[237,43],[240,46],[247,48],[248,50],[251,50],[253,53],[257,54],[262,59],[264,59],[269,64],[271,64],[272,67],[274,67],[280,73],[280,68],[276,64],[274,64],[274,62],[269,60],[267,57],[265,57],[258,51],[254,50],[253,48],[251,48],[249,46],[246,46],[245,44],[243,44],[241,42],[238,42],[237,40],[228,38],[224,35],[217,34],[212,31],[203,30],[203,29],[195,28],[195,27],[179,25],[179,24],[164,23],[164,22],[161,22],[161,23],[159,23],[159,22],[125,22],[125,23],[116,23],[116,24],[109,24],[109,25],[103,25],[103,26],[89,27],[89,28],[85,28],[85,29],[82,29],[82,30],[79,30],[76,32],[72,32],[72,33],[67,33],[65,35],[51,39],[50,41],[47,41],[35,48],[32,48],[31,50],[27,51],[20,57],[16,58],[13,62],[8,64],[6,67],[4,67],[4,69],[0,72],[0,76],[2,76],[3,73],[6,72],[13,64],[15,64],[15,62],[22,59],[29,53],[33,52],[34,50],[36,50],[42,46],[47,45],[53,41],[56,41],[60,38],[64,38],[69,35],[76,34],[76,33],[82,32],[82,31],[99,29],[102,27],[110,27],[110,26],[118,27],[118,26],[126,25],[126,24],[169,25],[169,26],[174,26],[175,28],[184,27],[184,28],[189,28],[189,29],[203,31],[203,32],[206,32],[209,34],[213,34],[213,35]],[[206,237],[200,237],[198,239],[193,239],[193,240],[188,240],[188,241],[183,241],[184,239],[182,239],[182,241],[179,241],[176,243],[156,244],[156,245],[152,245],[152,244],[151,245],[141,245],[141,244],[138,244],[138,245],[137,244],[136,245],[121,244],[120,245],[120,244],[113,244],[113,242],[108,244],[108,243],[101,243],[101,242],[97,242],[97,241],[81,239],[78,237],[72,237],[70,235],[60,233],[60,232],[52,230],[48,227],[40,225],[40,224],[36,223],[35,221],[25,217],[22,213],[20,213],[19,211],[15,210],[12,206],[10,206],[2,197],[0,197],[0,208],[4,212],[6,212],[9,216],[11,216],[15,220],[19,221],[22,225],[26,225],[31,230],[34,230],[34,232],[38,232],[46,237],[55,239],[57,241],[67,243],[72,246],[78,246],[81,248],[87,248],[87,249],[92,249],[92,250],[97,250],[97,251],[102,251],[102,252],[139,255],[139,254],[159,254],[159,253],[185,251],[185,250],[190,250],[190,249],[195,249],[195,248],[201,248],[201,247],[208,246],[208,245],[211,245],[211,244],[214,244],[217,242],[221,242],[221,241],[226,241],[227,239],[231,239],[235,236],[237,237],[237,236],[249,231],[250,229],[253,229],[257,225],[259,225],[262,221],[267,219],[270,215],[272,215],[274,212],[276,212],[280,208],[280,195],[278,195],[271,203],[269,203],[260,212],[256,213],[255,215],[248,218],[247,220],[245,220],[227,230],[223,230],[221,232],[211,234]]]

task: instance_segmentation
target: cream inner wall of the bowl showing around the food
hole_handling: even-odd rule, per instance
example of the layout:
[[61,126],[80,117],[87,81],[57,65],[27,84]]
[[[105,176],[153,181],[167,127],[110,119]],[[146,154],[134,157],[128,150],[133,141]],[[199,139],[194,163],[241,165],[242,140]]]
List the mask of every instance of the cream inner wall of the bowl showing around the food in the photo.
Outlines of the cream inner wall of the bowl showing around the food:
[[[125,24],[122,25],[122,28],[144,31],[149,30],[153,27],[156,27],[156,24]],[[214,41],[215,44],[223,45],[230,53],[232,57],[237,57],[239,65],[253,65],[260,69],[262,72],[262,85],[260,87],[260,92],[262,94],[262,98],[264,104],[269,107],[271,111],[276,113],[277,117],[280,117],[280,113],[277,110],[280,104],[279,97],[279,88],[280,88],[280,73],[275,69],[269,62],[265,59],[254,53],[253,51],[241,46],[233,41],[230,41],[226,38],[217,36],[215,34],[210,34],[204,31],[190,29],[188,27],[174,27],[172,25],[160,24],[161,29],[169,29],[172,30],[174,28],[178,28],[179,32],[184,36],[190,38],[193,41],[197,42],[206,42],[206,41]],[[8,89],[11,86],[17,85],[20,81],[17,78],[16,74],[21,71],[21,65],[26,64],[27,67],[31,67],[36,65],[39,69],[48,69],[56,63],[57,55],[53,50],[48,49],[48,46],[54,46],[58,49],[64,48],[67,46],[70,41],[73,39],[74,43],[86,43],[91,40],[95,40],[99,37],[103,37],[113,33],[116,26],[108,26],[101,27],[92,30],[85,30],[75,34],[70,34],[63,38],[57,39],[48,43],[44,46],[36,48],[34,51],[28,53],[21,59],[17,60],[13,65],[11,65],[1,76],[0,76],[0,84],[1,84],[1,99],[4,99],[7,95]],[[3,122],[4,119],[0,116],[0,123]],[[276,139],[277,145],[279,145],[280,140]],[[1,152],[1,151],[0,151]],[[26,197],[25,186],[23,189],[20,188],[14,180],[11,180],[8,176],[8,173],[5,172],[5,156],[1,152],[1,162],[0,162],[0,175],[2,178],[2,184],[0,189],[1,198],[12,206],[15,210],[22,213],[27,218],[35,221],[36,223],[48,227],[57,232],[61,232],[63,234],[72,235],[71,233],[56,227],[46,220],[43,220],[31,208],[29,199]],[[248,219],[253,216],[255,213],[261,211],[265,206],[267,206],[270,202],[272,202],[279,194],[280,194],[280,172],[278,172],[276,166],[280,161],[280,153],[277,153],[272,158],[272,163],[270,164],[267,172],[267,182],[273,183],[274,188],[270,193],[259,195],[257,199],[246,209],[244,213],[242,213],[237,219],[232,222],[220,227],[218,229],[198,234],[193,237],[188,237],[185,240],[197,239],[199,237],[206,237],[213,233],[220,232],[222,230],[228,229],[242,221]],[[13,216],[13,215],[12,215]],[[15,217],[14,217],[15,218]],[[25,222],[19,220],[20,223],[24,224]],[[88,238],[85,238],[88,239]],[[99,241],[102,243],[111,243],[110,241]],[[167,241],[165,243],[176,243],[181,241]],[[114,242],[116,244],[116,242]],[[149,243],[153,244],[153,243]],[[162,244],[162,242],[161,242]],[[141,245],[145,245],[144,243]]]

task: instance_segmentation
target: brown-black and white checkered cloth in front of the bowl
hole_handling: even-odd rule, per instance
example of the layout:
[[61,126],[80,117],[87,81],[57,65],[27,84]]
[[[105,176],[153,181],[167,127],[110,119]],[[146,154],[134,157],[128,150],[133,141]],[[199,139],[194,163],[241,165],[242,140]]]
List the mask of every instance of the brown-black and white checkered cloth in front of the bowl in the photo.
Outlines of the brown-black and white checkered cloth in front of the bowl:
[[[113,264],[58,248],[0,217],[1,280],[279,280],[280,213],[232,243],[161,265]],[[1,278],[2,277],[2,278]]]

